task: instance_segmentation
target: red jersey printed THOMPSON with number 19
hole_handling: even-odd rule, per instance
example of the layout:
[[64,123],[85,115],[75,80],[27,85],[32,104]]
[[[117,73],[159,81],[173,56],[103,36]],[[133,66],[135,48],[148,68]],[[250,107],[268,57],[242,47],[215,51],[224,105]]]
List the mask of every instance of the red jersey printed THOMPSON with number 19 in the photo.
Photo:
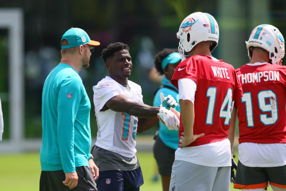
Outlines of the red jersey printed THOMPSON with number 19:
[[239,143],[286,143],[286,67],[245,64],[236,73],[243,89],[236,102]]

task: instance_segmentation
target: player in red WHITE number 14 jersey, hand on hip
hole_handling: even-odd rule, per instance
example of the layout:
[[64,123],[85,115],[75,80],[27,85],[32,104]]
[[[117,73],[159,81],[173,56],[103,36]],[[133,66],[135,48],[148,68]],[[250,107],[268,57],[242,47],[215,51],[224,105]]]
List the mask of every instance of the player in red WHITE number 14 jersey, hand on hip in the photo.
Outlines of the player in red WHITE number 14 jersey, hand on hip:
[[229,190],[228,129],[231,103],[240,100],[241,85],[233,66],[212,57],[219,29],[211,15],[197,12],[187,16],[177,36],[183,61],[171,83],[179,90],[180,143],[170,191]]

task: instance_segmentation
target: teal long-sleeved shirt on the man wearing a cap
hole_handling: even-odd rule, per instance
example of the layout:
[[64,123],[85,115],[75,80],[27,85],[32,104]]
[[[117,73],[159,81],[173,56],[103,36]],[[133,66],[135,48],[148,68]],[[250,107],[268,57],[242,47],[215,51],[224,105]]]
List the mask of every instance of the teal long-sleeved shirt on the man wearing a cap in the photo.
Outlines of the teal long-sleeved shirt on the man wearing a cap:
[[42,94],[43,171],[75,172],[89,166],[91,147],[90,101],[78,73],[58,64],[46,78]]

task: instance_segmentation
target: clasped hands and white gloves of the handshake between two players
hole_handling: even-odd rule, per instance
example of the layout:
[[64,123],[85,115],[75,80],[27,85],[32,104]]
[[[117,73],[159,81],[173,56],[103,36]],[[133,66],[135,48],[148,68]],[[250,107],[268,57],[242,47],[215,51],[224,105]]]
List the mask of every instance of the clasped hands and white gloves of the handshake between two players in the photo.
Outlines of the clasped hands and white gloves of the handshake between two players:
[[164,94],[160,93],[160,97],[161,105],[159,113],[157,114],[158,118],[167,126],[169,130],[177,131],[178,127],[180,126],[180,120],[178,118],[180,113],[173,108],[175,108],[178,103],[171,95],[164,97]]

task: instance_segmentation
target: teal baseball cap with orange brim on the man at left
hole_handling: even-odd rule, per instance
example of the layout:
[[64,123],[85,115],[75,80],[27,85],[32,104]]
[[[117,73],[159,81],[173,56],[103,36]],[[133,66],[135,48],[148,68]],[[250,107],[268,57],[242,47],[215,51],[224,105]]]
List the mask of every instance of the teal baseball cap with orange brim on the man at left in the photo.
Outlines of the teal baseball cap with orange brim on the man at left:
[[[69,44],[62,46],[63,39],[66,39]],[[73,28],[73,27],[71,27],[63,34],[62,39],[60,41],[60,46],[62,49],[78,47],[84,44],[89,44],[91,46],[98,46],[100,45],[100,42],[90,40],[86,31],[80,28]]]

